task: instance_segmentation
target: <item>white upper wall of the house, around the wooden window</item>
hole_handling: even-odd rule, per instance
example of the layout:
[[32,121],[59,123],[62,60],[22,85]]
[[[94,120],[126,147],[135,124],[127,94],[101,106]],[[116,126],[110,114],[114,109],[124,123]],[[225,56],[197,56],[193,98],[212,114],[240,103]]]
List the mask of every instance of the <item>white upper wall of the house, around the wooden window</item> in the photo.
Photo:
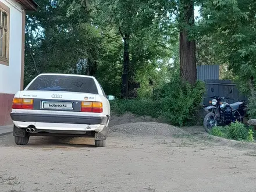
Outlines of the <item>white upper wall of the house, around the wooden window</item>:
[[0,93],[20,90],[22,65],[22,6],[14,0],[0,0],[10,8],[9,66],[0,61]]

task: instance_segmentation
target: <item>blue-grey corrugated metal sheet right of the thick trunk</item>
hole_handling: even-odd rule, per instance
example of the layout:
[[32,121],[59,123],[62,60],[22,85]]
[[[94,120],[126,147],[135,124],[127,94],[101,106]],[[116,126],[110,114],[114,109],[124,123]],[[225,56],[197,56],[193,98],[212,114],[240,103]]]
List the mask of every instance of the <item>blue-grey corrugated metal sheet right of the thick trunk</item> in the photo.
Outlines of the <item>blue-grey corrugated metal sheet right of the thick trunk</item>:
[[197,79],[218,80],[219,79],[219,65],[200,65],[197,66]]

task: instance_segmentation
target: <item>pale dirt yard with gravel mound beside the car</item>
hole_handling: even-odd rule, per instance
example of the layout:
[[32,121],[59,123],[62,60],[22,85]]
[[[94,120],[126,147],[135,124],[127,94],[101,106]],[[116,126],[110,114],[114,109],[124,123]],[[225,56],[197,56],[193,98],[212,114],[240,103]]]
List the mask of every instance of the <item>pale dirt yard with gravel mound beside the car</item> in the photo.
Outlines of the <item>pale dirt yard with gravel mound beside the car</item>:
[[105,148],[88,138],[31,137],[20,147],[0,137],[0,191],[256,191],[255,144],[201,127],[122,123]]

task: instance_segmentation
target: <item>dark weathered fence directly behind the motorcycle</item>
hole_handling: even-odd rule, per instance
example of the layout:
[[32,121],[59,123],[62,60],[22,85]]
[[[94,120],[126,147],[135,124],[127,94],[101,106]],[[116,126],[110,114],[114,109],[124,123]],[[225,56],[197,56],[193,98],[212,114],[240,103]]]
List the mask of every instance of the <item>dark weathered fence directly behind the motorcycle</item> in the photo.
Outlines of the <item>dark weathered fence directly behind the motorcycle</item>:
[[[225,102],[231,104],[236,101],[246,100],[247,98],[239,93],[239,90],[230,80],[205,80],[206,93],[204,95],[203,104],[209,105],[212,96],[229,97],[232,99],[225,99]],[[230,93],[232,90],[232,93]]]

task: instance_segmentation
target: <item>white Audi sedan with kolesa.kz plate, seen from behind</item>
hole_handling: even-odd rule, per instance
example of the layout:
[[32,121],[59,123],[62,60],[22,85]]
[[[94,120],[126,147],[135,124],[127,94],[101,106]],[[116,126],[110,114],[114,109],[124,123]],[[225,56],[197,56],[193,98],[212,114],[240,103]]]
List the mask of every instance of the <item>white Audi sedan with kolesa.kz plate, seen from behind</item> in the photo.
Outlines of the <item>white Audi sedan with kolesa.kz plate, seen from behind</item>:
[[92,76],[40,74],[13,98],[13,136],[17,145],[30,136],[94,137],[105,147],[111,118],[109,101]]

